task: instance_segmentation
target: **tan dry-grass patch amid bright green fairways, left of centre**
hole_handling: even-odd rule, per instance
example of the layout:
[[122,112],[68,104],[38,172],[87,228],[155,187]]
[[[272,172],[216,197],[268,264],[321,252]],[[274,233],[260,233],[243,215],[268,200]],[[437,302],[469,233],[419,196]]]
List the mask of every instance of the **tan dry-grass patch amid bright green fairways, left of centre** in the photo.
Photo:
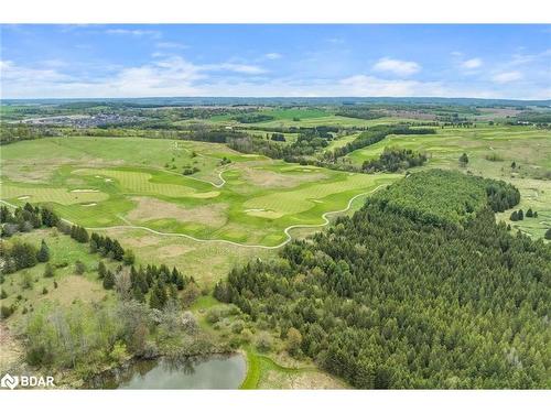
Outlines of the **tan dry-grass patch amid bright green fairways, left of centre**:
[[209,227],[220,227],[227,220],[227,204],[184,208],[156,198],[134,197],[132,199],[138,203],[138,206],[127,215],[127,218],[132,221],[172,218],[185,222],[201,222]]

